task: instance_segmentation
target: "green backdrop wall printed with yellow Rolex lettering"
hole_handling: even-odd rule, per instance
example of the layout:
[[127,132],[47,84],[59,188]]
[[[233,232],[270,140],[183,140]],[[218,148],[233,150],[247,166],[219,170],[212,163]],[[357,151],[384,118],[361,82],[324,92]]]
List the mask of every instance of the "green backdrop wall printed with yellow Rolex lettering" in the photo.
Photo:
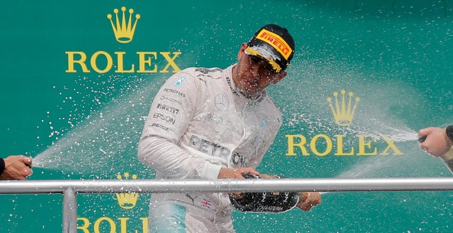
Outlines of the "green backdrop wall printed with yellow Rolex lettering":
[[[136,22],[128,42],[114,34],[121,7],[127,21],[133,10],[131,29]],[[34,157],[30,180],[152,178],[136,154],[159,86],[179,69],[233,64],[242,42],[277,23],[297,49],[288,76],[269,88],[284,123],[259,171],[450,176],[417,148],[415,132],[453,123],[452,8],[449,0],[3,3],[0,155]],[[345,104],[353,93],[354,114],[336,112],[341,90]],[[334,113],[353,116],[351,124]],[[326,193],[310,212],[233,219],[237,232],[451,232],[452,196]],[[78,195],[78,232],[143,232],[149,197],[132,207],[115,194]],[[62,230],[61,195],[1,195],[0,203],[0,232]]]

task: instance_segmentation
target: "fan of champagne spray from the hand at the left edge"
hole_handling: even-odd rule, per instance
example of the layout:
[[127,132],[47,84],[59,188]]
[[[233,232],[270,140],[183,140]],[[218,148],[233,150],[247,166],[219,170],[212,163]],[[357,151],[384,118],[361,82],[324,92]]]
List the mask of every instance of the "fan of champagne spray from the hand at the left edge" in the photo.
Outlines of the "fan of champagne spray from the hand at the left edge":
[[[137,143],[160,80],[136,80],[33,159],[33,167],[75,173],[108,173],[134,162]],[[99,93],[99,92],[97,92]],[[96,97],[93,97],[95,99]],[[126,158],[127,157],[127,158]]]

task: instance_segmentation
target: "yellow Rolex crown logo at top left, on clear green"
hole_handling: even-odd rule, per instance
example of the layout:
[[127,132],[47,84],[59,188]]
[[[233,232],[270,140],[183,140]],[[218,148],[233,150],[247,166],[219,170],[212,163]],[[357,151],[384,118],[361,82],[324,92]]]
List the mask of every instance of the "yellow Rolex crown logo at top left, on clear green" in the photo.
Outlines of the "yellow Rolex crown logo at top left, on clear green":
[[123,12],[121,17],[121,23],[119,22],[118,9],[113,10],[115,12],[116,21],[113,23],[112,14],[107,14],[107,19],[110,19],[112,25],[113,33],[115,33],[115,38],[117,41],[123,44],[126,44],[132,41],[134,37],[135,27],[137,26],[137,21],[140,19],[140,14],[135,14],[135,22],[132,26],[132,14],[134,9],[129,9],[129,20],[126,22],[126,7],[122,7],[121,11]]

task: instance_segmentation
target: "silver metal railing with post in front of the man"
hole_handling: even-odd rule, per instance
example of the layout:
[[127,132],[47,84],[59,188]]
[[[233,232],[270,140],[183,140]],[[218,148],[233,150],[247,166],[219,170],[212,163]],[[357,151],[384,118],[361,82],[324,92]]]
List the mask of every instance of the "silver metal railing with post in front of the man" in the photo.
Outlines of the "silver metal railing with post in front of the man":
[[61,193],[63,232],[77,232],[79,193],[453,191],[453,177],[259,180],[25,180],[1,181],[0,194]]

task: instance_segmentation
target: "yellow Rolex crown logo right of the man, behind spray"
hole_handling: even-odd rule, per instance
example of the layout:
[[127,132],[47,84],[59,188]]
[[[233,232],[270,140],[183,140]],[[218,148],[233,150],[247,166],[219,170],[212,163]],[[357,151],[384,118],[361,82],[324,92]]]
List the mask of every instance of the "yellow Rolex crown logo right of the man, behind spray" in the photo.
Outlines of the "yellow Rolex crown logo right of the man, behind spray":
[[332,109],[332,113],[334,114],[335,123],[340,126],[348,126],[351,125],[352,119],[354,114],[356,113],[357,103],[360,101],[359,97],[356,97],[354,106],[352,106],[352,99],[354,93],[349,92],[348,96],[348,103],[346,104],[346,91],[341,90],[341,103],[338,101],[338,93],[334,93],[335,97],[335,107],[332,103],[332,98],[327,97],[327,102],[329,102],[330,108]]

